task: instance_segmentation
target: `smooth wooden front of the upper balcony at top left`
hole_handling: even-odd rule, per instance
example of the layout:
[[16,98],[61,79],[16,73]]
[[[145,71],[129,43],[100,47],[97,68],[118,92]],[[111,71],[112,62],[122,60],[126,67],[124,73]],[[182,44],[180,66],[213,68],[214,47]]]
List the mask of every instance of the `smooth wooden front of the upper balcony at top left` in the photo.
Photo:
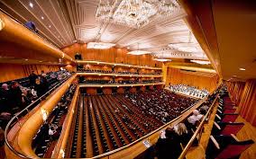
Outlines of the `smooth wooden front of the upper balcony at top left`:
[[[72,57],[62,52],[49,41],[41,38],[38,34],[32,32],[20,22],[9,17],[0,11],[0,39],[12,42],[12,44],[23,46],[26,49],[32,49],[40,52],[44,56],[62,58],[73,61]],[[28,54],[28,53],[27,53]],[[28,54],[29,55],[29,54]]]

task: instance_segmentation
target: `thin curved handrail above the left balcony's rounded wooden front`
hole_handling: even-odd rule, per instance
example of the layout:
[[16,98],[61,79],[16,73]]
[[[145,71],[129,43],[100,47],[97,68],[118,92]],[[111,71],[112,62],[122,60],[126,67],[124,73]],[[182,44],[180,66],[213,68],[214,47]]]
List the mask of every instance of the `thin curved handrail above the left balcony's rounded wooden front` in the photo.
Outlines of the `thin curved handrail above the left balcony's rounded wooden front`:
[[[69,76],[70,77],[70,76]],[[63,84],[64,82],[66,82],[69,77],[65,78],[64,80],[62,80],[59,84],[56,84],[54,87],[52,87],[47,93],[44,93],[40,98],[38,98],[35,102],[32,102],[30,105],[28,105],[26,108],[24,108],[23,110],[21,110],[20,112],[18,112],[16,115],[14,115],[14,117],[12,119],[10,119],[10,121],[8,122],[8,124],[6,125],[6,128],[5,128],[5,145],[8,146],[8,148],[14,152],[15,155],[18,155],[19,157],[22,157],[22,158],[28,158],[27,156],[21,154],[20,152],[16,151],[14,149],[13,146],[11,146],[11,144],[9,143],[8,141],[8,132],[9,130],[11,129],[11,127],[14,126],[14,124],[16,124],[20,118],[23,118],[22,114],[24,111],[27,111],[26,114],[29,113],[29,109],[32,108],[32,106],[37,106],[38,103],[37,102],[41,102],[41,100],[48,96],[50,93],[52,93],[57,87],[59,87],[60,84]],[[34,105],[35,103],[37,103],[36,105]],[[14,120],[16,120],[16,122],[14,122]]]

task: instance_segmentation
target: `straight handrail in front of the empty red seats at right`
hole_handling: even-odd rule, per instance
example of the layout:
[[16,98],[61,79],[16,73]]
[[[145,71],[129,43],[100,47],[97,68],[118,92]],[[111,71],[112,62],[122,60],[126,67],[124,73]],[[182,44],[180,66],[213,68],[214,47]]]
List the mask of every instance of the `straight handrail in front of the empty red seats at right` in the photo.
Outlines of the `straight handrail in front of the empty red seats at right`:
[[190,148],[190,146],[192,146],[194,140],[197,137],[197,134],[200,132],[201,128],[203,127],[206,119],[208,118],[208,115],[210,114],[211,110],[214,108],[215,106],[215,102],[218,99],[218,96],[215,97],[215,101],[212,103],[211,107],[209,108],[209,110],[207,111],[204,119],[202,119],[202,121],[200,122],[199,126],[197,127],[197,130],[195,131],[194,135],[190,138],[190,140],[187,143],[187,146],[184,148],[184,150],[182,151],[182,153],[179,155],[178,159],[183,159],[185,158],[185,156],[187,155],[187,151]]

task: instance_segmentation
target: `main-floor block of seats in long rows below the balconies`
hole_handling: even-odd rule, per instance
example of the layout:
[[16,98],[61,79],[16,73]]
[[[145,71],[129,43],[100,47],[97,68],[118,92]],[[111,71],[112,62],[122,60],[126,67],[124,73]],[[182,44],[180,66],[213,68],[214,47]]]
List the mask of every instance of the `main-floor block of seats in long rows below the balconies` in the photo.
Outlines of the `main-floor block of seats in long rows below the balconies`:
[[[175,93],[164,90],[137,93],[136,96],[147,101],[152,98],[152,94],[156,97],[166,96],[166,100],[172,101],[169,107],[176,108],[177,111],[174,113],[177,113],[177,115],[170,119],[177,117],[182,110],[197,102],[195,99],[178,96]],[[129,100],[133,98],[133,94],[85,95],[81,98],[84,98],[84,100],[80,101],[79,105],[82,104],[83,107],[78,107],[78,115],[72,134],[72,147],[66,157],[93,157],[101,155],[116,148],[126,146],[164,124],[161,119],[155,116],[139,113],[141,112],[140,107]],[[181,100],[178,100],[180,98]],[[164,98],[157,98],[155,101],[165,102]],[[178,102],[183,103],[183,108],[180,110],[178,109],[180,107],[177,104]],[[147,104],[150,103],[147,102]],[[161,107],[161,104],[159,106]],[[81,120],[83,122],[79,124]],[[79,143],[80,145],[78,145]]]

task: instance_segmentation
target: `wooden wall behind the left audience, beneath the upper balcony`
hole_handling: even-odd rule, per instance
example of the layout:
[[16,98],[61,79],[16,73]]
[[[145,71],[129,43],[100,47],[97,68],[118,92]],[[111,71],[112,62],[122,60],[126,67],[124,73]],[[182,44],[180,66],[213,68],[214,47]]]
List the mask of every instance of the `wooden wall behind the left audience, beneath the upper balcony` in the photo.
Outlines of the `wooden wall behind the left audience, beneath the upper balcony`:
[[35,74],[41,74],[42,70],[48,73],[58,71],[59,66],[0,64],[0,82],[26,77],[31,74],[32,70],[35,71]]

